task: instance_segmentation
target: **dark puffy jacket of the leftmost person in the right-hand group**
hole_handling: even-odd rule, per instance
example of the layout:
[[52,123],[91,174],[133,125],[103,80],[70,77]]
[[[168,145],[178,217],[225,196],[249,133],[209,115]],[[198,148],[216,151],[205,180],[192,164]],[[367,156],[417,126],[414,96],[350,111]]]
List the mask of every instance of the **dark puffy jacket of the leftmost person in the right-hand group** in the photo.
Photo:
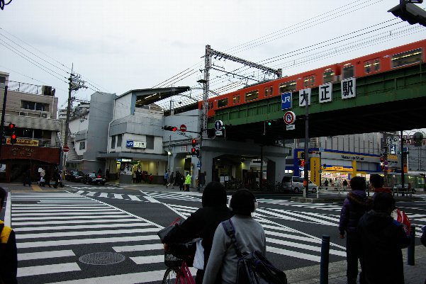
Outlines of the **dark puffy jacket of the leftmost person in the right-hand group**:
[[356,233],[359,218],[369,206],[365,191],[355,190],[347,194],[340,211],[339,232],[344,235]]

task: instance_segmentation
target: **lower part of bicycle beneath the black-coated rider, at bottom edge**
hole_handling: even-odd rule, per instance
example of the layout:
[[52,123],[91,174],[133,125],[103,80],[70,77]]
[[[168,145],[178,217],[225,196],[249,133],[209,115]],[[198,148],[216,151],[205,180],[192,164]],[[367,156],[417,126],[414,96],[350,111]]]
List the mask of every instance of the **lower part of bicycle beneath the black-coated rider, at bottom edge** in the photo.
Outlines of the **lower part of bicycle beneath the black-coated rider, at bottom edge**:
[[164,251],[164,263],[167,270],[164,273],[162,284],[195,284],[184,259],[179,259],[173,254]]

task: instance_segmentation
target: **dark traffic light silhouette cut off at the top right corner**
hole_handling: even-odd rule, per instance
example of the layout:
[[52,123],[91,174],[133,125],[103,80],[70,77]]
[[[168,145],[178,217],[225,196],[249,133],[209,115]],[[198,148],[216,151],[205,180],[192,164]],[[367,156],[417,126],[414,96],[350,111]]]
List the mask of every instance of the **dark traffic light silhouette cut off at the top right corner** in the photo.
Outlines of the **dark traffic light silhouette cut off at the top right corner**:
[[388,10],[393,16],[399,17],[403,21],[408,21],[410,25],[419,23],[426,26],[426,11],[416,6],[414,3],[422,3],[423,0],[400,0],[400,4]]

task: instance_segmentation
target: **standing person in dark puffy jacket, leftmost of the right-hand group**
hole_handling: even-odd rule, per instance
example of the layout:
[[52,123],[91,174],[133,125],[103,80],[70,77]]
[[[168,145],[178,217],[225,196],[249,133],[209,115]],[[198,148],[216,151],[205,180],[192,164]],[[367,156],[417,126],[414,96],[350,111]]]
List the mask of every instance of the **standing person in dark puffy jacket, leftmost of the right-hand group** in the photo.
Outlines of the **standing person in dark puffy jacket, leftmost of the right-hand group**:
[[355,176],[351,179],[352,191],[347,194],[343,201],[340,211],[339,232],[340,239],[344,239],[346,233],[346,261],[347,261],[347,283],[356,284],[358,277],[358,260],[361,264],[361,273],[359,273],[359,283],[364,284],[363,274],[364,263],[361,259],[361,239],[357,232],[358,222],[369,206],[369,200],[366,197],[366,183],[361,176]]

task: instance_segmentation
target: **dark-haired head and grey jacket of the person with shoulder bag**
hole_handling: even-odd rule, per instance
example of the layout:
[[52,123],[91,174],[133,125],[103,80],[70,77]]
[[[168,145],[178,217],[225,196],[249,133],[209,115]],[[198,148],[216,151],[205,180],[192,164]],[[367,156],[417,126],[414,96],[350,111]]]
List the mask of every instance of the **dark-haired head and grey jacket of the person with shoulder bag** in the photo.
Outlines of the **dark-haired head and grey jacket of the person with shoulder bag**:
[[[259,251],[267,252],[267,242],[262,225],[252,218],[252,212],[257,208],[256,198],[247,189],[236,191],[230,200],[232,210],[232,225],[235,229],[235,239],[242,254]],[[213,246],[208,258],[203,284],[223,283],[234,284],[237,280],[237,253],[222,224],[219,224],[213,237]],[[216,282],[217,277],[222,282]]]

